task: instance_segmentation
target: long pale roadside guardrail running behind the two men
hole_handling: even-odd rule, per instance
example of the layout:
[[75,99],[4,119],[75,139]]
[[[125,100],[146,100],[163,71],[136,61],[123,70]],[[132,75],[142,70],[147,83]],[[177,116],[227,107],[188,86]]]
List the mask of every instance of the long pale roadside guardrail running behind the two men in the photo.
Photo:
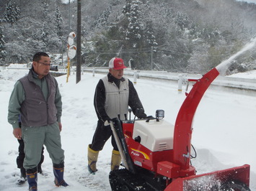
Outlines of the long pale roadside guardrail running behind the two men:
[[[30,69],[30,67],[5,67],[4,69],[25,70]],[[51,71],[51,73],[55,73],[55,76],[65,75],[66,70],[66,67],[58,66],[58,72]],[[76,67],[71,67],[71,73],[76,73]],[[107,74],[108,67],[81,67],[81,73],[92,73],[93,76],[95,75],[95,73]],[[187,83],[187,79],[200,79],[202,77],[202,75],[198,74],[169,73],[167,71],[131,70],[130,68],[124,70],[124,75],[132,76],[134,79],[134,83],[136,83],[137,78],[143,78],[148,80],[164,80],[172,83],[177,83],[179,81],[179,78],[182,77],[182,85],[185,85]],[[235,93],[255,95],[256,79],[218,76],[216,80],[213,81],[210,88],[217,87],[222,87],[224,90],[231,90]],[[180,91],[180,87],[178,88],[178,90]]]

